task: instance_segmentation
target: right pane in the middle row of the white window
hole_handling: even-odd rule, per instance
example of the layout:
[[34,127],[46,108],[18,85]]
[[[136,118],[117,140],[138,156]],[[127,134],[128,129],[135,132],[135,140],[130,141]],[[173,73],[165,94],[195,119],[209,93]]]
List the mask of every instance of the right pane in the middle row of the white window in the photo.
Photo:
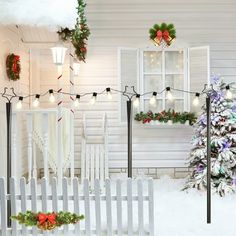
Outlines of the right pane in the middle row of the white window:
[[[184,88],[184,76],[183,75],[166,75],[165,81],[166,87],[171,87],[175,89]],[[172,91],[173,96],[177,98],[183,98],[184,93],[178,91]]]

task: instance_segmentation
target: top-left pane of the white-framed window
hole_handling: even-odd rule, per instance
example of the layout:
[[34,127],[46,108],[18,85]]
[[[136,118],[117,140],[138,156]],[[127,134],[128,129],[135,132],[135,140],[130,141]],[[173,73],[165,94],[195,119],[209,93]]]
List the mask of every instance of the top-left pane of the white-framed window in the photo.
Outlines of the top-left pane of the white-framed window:
[[147,51],[143,53],[144,73],[161,73],[162,52]]

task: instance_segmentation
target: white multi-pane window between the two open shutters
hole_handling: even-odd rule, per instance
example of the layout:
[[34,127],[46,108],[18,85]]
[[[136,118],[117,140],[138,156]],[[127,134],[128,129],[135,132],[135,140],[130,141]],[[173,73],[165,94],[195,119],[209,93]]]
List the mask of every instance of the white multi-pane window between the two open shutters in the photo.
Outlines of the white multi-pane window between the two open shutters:
[[[186,51],[142,51],[141,52],[141,93],[147,91],[161,91],[163,88],[187,90],[187,60]],[[172,91],[174,100],[166,99],[165,93],[157,96],[156,107],[149,104],[150,95],[143,98],[141,110],[153,112],[174,109],[176,111],[187,110],[186,94]]]

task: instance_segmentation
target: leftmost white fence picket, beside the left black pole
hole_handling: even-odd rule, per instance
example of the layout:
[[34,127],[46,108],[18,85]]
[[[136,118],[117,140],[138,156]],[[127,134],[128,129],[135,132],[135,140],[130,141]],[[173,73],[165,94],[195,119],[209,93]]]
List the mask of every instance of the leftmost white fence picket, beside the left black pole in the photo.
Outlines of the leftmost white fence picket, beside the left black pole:
[[7,236],[7,207],[5,179],[0,178],[1,235]]

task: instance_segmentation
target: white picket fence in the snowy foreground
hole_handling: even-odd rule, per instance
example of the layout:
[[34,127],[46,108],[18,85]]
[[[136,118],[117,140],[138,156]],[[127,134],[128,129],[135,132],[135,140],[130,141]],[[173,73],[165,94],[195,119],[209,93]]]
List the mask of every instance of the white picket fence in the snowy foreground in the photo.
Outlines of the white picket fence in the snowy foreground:
[[[10,194],[6,193],[4,178],[0,178],[0,235],[150,235],[154,236],[154,197],[153,180],[105,181],[105,192],[101,192],[100,181],[95,180],[94,193],[90,194],[89,181],[84,179],[83,188],[77,178],[68,183],[63,178],[59,190],[57,180],[49,185],[45,178],[37,186],[32,178],[26,184],[24,178],[20,185],[10,180]],[[114,183],[114,184],[113,184]],[[147,188],[146,188],[147,187]],[[18,191],[19,189],[19,191]],[[40,191],[41,189],[41,191]],[[147,192],[145,192],[147,189]],[[61,193],[59,193],[61,192]],[[76,225],[64,226],[50,233],[36,227],[24,227],[12,221],[7,228],[7,200],[11,202],[11,215],[32,210],[33,212],[71,211],[83,214],[85,220]]]

